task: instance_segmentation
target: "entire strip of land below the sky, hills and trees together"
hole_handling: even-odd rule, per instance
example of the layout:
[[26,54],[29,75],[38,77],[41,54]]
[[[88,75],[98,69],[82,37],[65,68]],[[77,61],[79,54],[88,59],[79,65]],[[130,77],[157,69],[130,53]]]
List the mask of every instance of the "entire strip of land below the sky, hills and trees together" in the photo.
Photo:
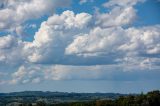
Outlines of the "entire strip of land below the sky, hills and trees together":
[[160,106],[160,91],[147,94],[49,91],[0,93],[0,106]]

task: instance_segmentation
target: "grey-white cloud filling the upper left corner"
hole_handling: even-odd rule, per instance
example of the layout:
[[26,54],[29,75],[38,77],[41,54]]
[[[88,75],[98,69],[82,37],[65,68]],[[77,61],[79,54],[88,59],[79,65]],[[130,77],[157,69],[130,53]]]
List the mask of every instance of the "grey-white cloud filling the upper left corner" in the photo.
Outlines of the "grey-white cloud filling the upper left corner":
[[[70,0],[3,0],[0,2],[0,30],[53,13],[55,8],[70,4]],[[11,18],[12,17],[12,18]]]

